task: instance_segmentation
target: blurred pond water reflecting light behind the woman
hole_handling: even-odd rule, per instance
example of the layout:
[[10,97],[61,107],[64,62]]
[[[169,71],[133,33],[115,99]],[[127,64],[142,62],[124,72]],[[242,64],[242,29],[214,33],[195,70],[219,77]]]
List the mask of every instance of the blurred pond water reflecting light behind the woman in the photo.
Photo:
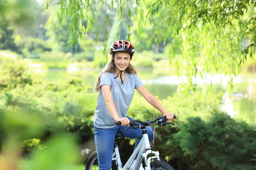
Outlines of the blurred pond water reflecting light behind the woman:
[[[70,76],[81,77],[91,86],[96,81],[101,68],[72,68],[72,69],[40,69],[34,70],[49,81],[58,79],[68,79]],[[140,77],[144,86],[154,96],[159,99],[166,99],[168,96],[173,96],[175,93],[179,79],[175,68],[143,68],[137,69],[137,75]],[[223,75],[209,75],[208,81],[211,80],[214,85],[211,90],[212,94],[217,94],[220,90],[225,93],[227,91],[227,82],[222,81]],[[196,77],[196,81],[200,84],[202,80]],[[243,120],[250,124],[256,123],[256,73],[240,73],[235,79],[234,97],[236,100],[233,104],[225,97],[225,105],[223,110],[226,110],[231,116],[236,115],[242,117]],[[137,91],[137,90],[135,90]],[[135,92],[136,93],[136,92]],[[227,94],[226,94],[227,95]],[[227,95],[228,96],[228,95]],[[233,109],[234,108],[234,109]]]

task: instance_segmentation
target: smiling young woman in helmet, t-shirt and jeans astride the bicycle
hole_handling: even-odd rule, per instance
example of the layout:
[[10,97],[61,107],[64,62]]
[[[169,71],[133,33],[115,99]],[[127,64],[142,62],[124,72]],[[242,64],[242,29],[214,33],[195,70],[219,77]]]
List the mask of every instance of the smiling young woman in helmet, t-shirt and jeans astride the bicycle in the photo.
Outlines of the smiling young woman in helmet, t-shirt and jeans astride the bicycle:
[[[110,46],[112,59],[99,73],[94,85],[94,90],[99,91],[93,118],[99,170],[111,169],[116,132],[122,132],[126,138],[137,139],[135,148],[143,137],[140,128],[125,131],[129,126],[129,120],[134,120],[127,115],[134,89],[137,89],[147,102],[162,112],[168,120],[173,119],[173,113],[168,112],[149,93],[136,75],[135,68],[130,64],[134,52],[134,46],[130,42],[124,40],[114,42]],[[122,125],[116,126],[115,122],[122,122]],[[148,133],[148,138],[152,139],[152,133]],[[131,165],[130,169],[133,167],[134,165]],[[143,167],[141,166],[140,169]]]

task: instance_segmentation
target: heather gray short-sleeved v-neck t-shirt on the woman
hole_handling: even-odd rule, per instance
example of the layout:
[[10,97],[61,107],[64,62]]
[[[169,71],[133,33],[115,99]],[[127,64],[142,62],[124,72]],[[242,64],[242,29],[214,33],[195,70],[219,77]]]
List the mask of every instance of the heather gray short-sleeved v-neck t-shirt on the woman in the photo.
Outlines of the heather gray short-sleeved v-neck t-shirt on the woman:
[[115,120],[109,113],[102,95],[101,86],[103,84],[110,87],[116,110],[121,118],[127,116],[127,110],[131,104],[134,89],[137,89],[143,85],[140,78],[135,73],[125,73],[125,79],[123,81],[124,84],[122,84],[121,80],[118,78],[114,79],[115,77],[116,75],[114,72],[103,73],[100,77],[99,96],[93,118],[93,124],[97,128],[109,129],[116,126]]

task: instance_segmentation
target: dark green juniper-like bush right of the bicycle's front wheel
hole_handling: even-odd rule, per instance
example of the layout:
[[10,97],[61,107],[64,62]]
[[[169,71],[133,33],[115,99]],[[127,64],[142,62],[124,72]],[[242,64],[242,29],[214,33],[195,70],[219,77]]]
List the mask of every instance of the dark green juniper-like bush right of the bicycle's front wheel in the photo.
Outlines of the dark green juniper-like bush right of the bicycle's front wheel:
[[256,163],[249,161],[256,153],[255,127],[226,113],[215,112],[209,121],[189,117],[167,138],[159,147],[182,169],[255,169]]

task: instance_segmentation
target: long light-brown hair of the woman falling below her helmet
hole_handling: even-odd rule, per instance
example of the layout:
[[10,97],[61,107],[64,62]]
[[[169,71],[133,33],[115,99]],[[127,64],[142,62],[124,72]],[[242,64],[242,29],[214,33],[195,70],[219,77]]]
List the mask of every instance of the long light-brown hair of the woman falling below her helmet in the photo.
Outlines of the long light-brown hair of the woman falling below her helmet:
[[[130,53],[129,53],[130,54]],[[115,53],[112,54],[112,59],[114,60],[114,55]],[[130,54],[130,58],[132,58],[131,54]],[[133,67],[133,65],[129,62],[128,67],[124,70],[126,73],[135,73],[137,74],[137,70],[135,69],[135,67]],[[93,88],[94,88],[94,92],[98,92],[100,90],[100,77],[103,73],[106,72],[110,72],[113,73],[115,72],[115,65],[113,64],[113,61],[110,60],[105,67],[103,67],[103,69],[101,70],[101,72],[98,74],[96,83],[94,84]]]

